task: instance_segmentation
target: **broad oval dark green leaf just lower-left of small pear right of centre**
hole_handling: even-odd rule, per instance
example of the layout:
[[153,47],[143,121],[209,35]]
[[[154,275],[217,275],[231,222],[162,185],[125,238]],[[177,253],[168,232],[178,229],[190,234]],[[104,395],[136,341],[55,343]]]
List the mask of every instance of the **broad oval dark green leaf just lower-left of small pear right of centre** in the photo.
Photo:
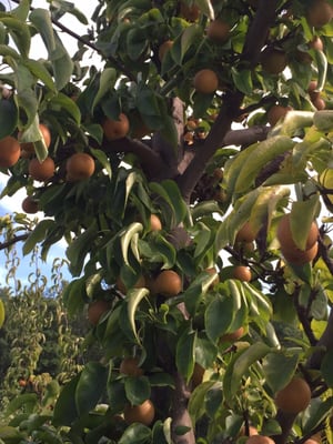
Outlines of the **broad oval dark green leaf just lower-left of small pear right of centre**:
[[233,317],[233,299],[218,294],[209,304],[204,315],[204,325],[209,339],[215,342],[221,337],[228,331]]

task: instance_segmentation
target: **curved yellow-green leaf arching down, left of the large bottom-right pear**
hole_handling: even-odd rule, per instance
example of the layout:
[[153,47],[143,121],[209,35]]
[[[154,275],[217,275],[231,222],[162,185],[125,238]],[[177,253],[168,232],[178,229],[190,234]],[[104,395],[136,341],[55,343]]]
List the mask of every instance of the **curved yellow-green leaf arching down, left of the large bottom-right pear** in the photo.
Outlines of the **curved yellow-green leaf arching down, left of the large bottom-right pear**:
[[262,360],[268,353],[271,352],[271,347],[263,342],[255,342],[250,345],[249,349],[236,353],[232,362],[226,367],[223,390],[228,402],[232,401],[241,386],[242,379],[249,371],[250,366],[259,360]]

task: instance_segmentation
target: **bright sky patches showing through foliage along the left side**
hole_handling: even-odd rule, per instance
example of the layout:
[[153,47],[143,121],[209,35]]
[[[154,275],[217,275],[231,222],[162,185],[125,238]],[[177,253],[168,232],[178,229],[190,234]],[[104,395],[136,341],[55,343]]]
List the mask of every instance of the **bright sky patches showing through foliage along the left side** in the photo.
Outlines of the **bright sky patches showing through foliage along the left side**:
[[[9,4],[11,2],[8,2]],[[88,19],[91,17],[92,12],[94,11],[94,8],[98,4],[98,1],[72,1],[72,3],[75,4],[78,9],[80,9],[87,17]],[[17,4],[11,3],[12,8],[16,8]],[[33,0],[32,6],[34,8],[47,8],[48,9],[48,2],[44,0]],[[64,16],[61,19],[61,22],[65,26],[68,26],[72,31],[77,32],[78,34],[84,33],[87,31],[87,27],[82,26],[75,18],[72,16]],[[70,53],[74,53],[77,50],[77,43],[75,41],[63,33],[60,33],[61,39],[64,42],[65,48],[69,50]],[[44,50],[44,47],[42,42],[38,39],[34,40],[34,43],[31,48],[31,58],[40,58],[40,57],[46,57],[47,51]],[[91,63],[93,60],[90,59],[89,62]],[[7,183],[8,176],[4,174],[0,173],[0,193],[2,192],[6,183]],[[21,190],[18,191],[12,198],[3,198],[0,200],[0,216],[3,216],[6,214],[11,214],[13,212],[22,212],[21,209],[21,202],[26,198],[26,191]],[[33,218],[42,218],[42,213],[38,213],[37,215],[33,214]],[[17,269],[17,278],[21,281],[22,285],[28,283],[28,278],[31,273],[34,272],[36,266],[31,265],[31,258],[22,256],[22,242],[17,243],[16,245],[18,258],[19,258],[19,265]],[[64,241],[59,242],[56,244],[49,252],[47,263],[43,263],[42,261],[38,262],[38,268],[40,270],[40,273],[44,275],[48,281],[50,280],[50,285],[52,285],[51,282],[51,271],[52,271],[52,263],[53,260],[57,258],[65,258],[65,243]],[[0,250],[0,286],[6,286],[6,275],[8,273],[8,265],[6,264],[7,258],[3,251]],[[62,269],[63,278],[65,280],[70,280],[70,273],[68,272],[67,268],[64,266]],[[11,284],[13,285],[13,284]]]

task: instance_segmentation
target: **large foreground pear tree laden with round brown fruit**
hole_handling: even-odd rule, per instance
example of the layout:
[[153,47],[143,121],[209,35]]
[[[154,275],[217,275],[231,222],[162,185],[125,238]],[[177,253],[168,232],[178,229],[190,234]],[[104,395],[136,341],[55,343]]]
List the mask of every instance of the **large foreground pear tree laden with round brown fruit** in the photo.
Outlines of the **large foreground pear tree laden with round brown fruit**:
[[[44,213],[26,254],[67,240],[64,302],[88,307],[103,357],[31,430],[331,438],[333,3],[99,1],[83,37],[65,13],[87,23],[62,1],[0,14],[2,195],[26,188]],[[34,34],[47,60],[29,58]]]

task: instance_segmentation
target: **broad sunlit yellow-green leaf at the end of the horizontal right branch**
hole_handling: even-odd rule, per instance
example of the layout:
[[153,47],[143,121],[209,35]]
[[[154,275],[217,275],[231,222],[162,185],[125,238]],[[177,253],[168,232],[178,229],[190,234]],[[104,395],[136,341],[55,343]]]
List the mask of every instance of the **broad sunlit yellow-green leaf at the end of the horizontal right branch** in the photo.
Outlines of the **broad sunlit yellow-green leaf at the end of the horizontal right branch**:
[[246,150],[242,151],[239,155],[243,159],[244,163],[239,171],[234,192],[242,193],[249,190],[260,171],[278,155],[290,151],[294,144],[295,142],[287,137],[275,135],[260,142],[256,149],[252,150],[249,155]]

